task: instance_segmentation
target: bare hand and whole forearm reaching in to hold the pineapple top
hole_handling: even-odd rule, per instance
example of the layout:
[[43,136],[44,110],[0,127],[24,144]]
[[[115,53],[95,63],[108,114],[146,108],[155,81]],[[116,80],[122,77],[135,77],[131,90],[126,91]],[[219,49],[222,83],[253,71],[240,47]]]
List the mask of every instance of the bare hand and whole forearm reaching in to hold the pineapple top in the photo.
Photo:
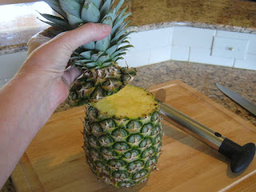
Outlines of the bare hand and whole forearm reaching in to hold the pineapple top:
[[66,70],[74,49],[101,40],[110,30],[110,25],[89,23],[50,40],[42,37],[14,78],[0,89],[0,189],[80,74],[75,68]]

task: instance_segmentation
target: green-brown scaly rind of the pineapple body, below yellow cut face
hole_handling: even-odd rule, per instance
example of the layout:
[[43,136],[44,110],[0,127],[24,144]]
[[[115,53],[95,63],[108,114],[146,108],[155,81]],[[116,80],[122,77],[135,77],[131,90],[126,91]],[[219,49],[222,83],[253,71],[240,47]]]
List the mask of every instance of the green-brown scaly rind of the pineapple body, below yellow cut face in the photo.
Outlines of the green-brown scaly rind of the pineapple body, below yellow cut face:
[[90,170],[115,187],[145,182],[162,146],[159,106],[147,116],[129,119],[100,114],[90,104],[84,122],[84,151]]

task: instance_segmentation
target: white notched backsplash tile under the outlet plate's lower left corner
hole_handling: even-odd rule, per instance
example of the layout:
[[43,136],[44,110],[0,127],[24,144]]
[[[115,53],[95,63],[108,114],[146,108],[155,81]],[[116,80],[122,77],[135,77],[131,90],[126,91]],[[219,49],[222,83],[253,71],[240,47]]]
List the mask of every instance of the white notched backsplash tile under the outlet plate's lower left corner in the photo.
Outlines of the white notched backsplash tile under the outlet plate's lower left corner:
[[234,58],[212,57],[210,56],[210,49],[190,48],[190,62],[204,63],[210,65],[222,65],[232,67],[234,65]]

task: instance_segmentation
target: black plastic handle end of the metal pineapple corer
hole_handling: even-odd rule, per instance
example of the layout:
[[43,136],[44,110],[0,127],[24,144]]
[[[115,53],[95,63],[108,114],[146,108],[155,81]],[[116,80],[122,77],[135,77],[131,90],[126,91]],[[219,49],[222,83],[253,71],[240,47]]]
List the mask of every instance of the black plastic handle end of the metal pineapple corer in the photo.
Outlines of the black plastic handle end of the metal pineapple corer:
[[238,143],[225,138],[218,148],[218,152],[231,159],[230,168],[232,172],[238,173],[245,170],[254,159],[255,145],[254,143],[246,143],[244,146],[240,146]]

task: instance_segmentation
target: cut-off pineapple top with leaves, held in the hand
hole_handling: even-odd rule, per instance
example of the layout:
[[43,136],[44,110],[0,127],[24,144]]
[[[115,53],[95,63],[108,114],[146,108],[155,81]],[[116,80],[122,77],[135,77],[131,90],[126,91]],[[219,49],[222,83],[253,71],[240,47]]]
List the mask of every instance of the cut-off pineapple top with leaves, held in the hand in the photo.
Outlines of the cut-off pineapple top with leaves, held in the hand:
[[[118,60],[132,47],[127,36],[130,21],[126,18],[126,8],[121,10],[125,0],[113,6],[114,0],[44,0],[60,17],[41,14],[49,25],[51,32],[61,33],[75,29],[88,22],[103,23],[112,26],[108,37],[93,41],[76,49],[70,64],[82,70],[82,75],[70,88],[70,99],[74,105],[88,104],[118,92],[134,79],[136,69],[118,66]],[[120,11],[119,11],[120,10]]]

